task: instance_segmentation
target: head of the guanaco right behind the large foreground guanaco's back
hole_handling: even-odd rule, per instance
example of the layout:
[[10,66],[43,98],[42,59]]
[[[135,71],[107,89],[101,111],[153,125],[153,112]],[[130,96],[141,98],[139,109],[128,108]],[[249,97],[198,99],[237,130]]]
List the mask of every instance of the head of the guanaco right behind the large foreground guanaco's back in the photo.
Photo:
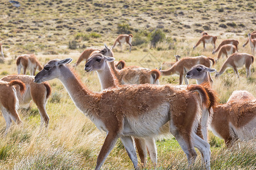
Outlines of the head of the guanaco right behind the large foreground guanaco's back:
[[104,71],[105,66],[108,66],[108,62],[114,61],[114,57],[103,56],[102,54],[93,54],[90,58],[88,58],[88,62],[85,64],[84,70],[87,72],[90,71]]

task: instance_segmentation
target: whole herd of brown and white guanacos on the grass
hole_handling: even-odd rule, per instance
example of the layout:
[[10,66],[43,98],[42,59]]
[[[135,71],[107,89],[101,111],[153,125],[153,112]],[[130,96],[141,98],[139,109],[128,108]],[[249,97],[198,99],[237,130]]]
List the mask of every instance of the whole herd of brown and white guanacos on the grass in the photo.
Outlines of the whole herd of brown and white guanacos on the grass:
[[[112,46],[130,45],[133,35],[119,35]],[[146,165],[147,154],[152,163],[157,164],[155,137],[159,134],[171,133],[187,155],[189,165],[195,162],[196,151],[199,150],[202,161],[210,169],[210,145],[207,141],[207,129],[223,138],[226,146],[232,146],[237,139],[250,140],[256,137],[256,99],[247,91],[234,91],[226,104],[217,104],[217,94],[212,89],[213,79],[210,68],[221,56],[227,59],[216,78],[232,67],[239,74],[238,67],[245,65],[246,77],[251,75],[250,66],[254,57],[246,53],[238,53],[238,41],[228,39],[216,47],[216,36],[207,32],[193,47],[203,42],[213,45],[212,57],[175,56],[176,62],[164,62],[167,70],[146,69],[139,66],[126,66],[125,61],[114,62],[112,49],[104,45],[103,49],[86,49],[75,65],[86,61],[85,71],[97,71],[101,83],[101,92],[90,91],[81,82],[72,66],[72,58],[52,59],[44,65],[40,64],[34,54],[23,54],[16,60],[18,75],[7,75],[0,80],[0,107],[6,121],[5,134],[11,126],[11,120],[22,122],[17,109],[19,105],[28,105],[34,101],[41,116],[41,126],[49,124],[46,103],[51,94],[51,86],[47,80],[59,79],[76,107],[85,114],[96,127],[106,132],[105,142],[97,158],[96,169],[100,169],[105,159],[113,150],[120,138],[134,168],[138,168],[137,153],[142,165]],[[256,31],[248,34],[243,47],[250,43],[254,54]],[[0,43],[3,56],[2,44]],[[237,52],[237,53],[236,53]],[[228,57],[229,56],[229,57]],[[181,59],[180,59],[181,58]],[[19,75],[30,70],[31,75]],[[35,75],[36,69],[39,73]],[[180,86],[171,84],[159,85],[160,75],[178,74]],[[196,79],[197,84],[189,84],[188,79]],[[181,85],[185,81],[185,86]],[[136,85],[135,85],[136,84]]]

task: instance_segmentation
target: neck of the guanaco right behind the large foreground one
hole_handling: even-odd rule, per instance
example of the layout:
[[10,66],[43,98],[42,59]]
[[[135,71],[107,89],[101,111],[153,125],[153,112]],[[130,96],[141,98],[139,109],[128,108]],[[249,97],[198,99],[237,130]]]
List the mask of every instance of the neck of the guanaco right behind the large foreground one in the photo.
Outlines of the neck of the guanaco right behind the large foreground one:
[[111,74],[108,63],[105,64],[104,70],[98,70],[97,74],[101,82],[101,90],[117,86],[117,84],[115,84],[114,77]]

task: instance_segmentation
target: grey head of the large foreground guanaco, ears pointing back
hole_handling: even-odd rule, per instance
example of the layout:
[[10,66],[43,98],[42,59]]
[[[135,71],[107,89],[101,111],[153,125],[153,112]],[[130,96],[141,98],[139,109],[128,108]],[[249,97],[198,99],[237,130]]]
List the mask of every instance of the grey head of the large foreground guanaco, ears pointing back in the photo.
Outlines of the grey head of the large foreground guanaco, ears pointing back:
[[39,71],[38,74],[36,74],[34,82],[35,83],[42,83],[47,80],[59,78],[61,75],[60,73],[60,67],[68,64],[72,61],[72,58],[66,58],[66,59],[52,59],[46,63],[43,70]]

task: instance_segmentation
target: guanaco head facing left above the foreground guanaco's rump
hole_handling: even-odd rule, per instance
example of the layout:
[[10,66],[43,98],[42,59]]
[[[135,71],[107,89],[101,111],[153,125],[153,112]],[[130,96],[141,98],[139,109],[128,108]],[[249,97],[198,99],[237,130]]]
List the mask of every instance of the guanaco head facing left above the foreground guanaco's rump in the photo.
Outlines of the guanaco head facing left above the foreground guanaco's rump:
[[186,78],[188,79],[204,79],[207,76],[207,72],[213,73],[216,69],[210,69],[209,67],[205,67],[204,65],[195,65],[191,70],[186,74]]

